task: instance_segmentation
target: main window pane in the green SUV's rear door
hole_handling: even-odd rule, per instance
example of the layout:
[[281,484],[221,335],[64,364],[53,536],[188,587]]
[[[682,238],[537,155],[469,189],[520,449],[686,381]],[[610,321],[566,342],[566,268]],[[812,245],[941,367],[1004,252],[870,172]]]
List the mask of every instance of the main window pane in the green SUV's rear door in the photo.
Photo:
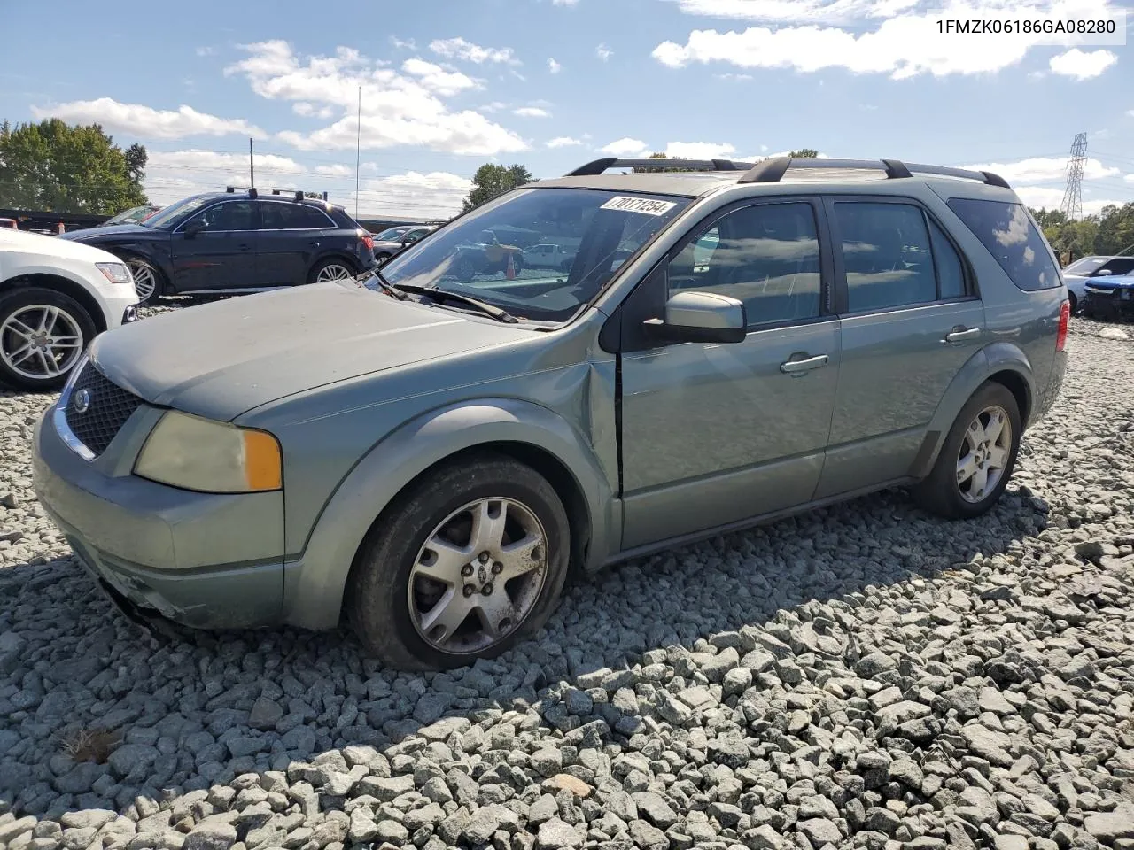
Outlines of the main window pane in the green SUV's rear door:
[[929,231],[920,207],[869,201],[838,202],[850,313],[937,299]]

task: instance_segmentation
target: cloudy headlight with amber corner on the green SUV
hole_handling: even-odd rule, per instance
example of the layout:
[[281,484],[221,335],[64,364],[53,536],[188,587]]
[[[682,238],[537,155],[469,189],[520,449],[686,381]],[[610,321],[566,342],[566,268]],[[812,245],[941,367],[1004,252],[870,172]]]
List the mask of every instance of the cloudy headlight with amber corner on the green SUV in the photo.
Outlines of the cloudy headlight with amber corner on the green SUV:
[[143,478],[203,493],[254,493],[284,486],[280,445],[266,431],[169,410],[134,464]]

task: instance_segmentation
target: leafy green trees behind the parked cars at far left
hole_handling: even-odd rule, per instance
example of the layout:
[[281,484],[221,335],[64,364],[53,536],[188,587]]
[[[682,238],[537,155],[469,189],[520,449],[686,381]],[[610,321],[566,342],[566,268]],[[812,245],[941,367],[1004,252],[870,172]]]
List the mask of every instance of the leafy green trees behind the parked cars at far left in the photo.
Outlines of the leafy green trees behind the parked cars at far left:
[[111,215],[149,203],[145,147],[125,151],[98,124],[51,118],[0,126],[0,206]]

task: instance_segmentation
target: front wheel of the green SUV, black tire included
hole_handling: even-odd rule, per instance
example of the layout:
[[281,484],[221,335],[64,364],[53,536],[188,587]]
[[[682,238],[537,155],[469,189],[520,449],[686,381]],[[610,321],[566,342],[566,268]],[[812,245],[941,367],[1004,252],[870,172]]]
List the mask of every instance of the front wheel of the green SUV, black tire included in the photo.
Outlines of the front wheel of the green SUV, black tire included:
[[[474,545],[475,526],[463,509],[486,510],[484,516],[491,518],[494,503],[499,517],[505,500],[505,522],[499,527],[507,529],[509,541],[532,541],[535,569],[532,558],[518,553],[509,558],[496,544],[481,544],[491,552],[488,561],[475,553],[480,549]],[[454,515],[458,519],[446,525]],[[494,525],[490,521],[482,541],[492,536]],[[449,541],[447,549],[426,545],[441,541],[442,534]],[[445,551],[450,558],[442,563],[437,553]],[[469,561],[464,562],[463,555]],[[347,614],[366,652],[391,668],[464,666],[496,657],[547,622],[562,592],[569,559],[567,512],[547,479],[507,456],[476,454],[438,468],[383,512],[352,567]],[[505,561],[507,570],[518,568],[505,579],[507,584],[496,578],[506,575]],[[426,573],[446,575],[449,580],[434,583]],[[482,612],[490,605],[503,618],[496,636],[484,628],[488,614]],[[439,617],[442,611],[451,615]],[[448,620],[451,628],[437,620]]]

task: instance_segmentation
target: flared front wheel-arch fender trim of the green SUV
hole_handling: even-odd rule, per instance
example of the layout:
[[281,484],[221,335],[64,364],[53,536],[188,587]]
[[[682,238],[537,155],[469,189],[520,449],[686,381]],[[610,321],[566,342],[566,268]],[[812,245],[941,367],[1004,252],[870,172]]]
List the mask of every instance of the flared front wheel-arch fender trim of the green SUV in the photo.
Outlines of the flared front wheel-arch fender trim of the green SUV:
[[[286,619],[307,629],[339,622],[355,553],[374,519],[416,476],[440,460],[486,443],[524,443],[553,456],[574,477],[590,515],[587,569],[601,563],[617,527],[606,475],[585,439],[551,410],[489,398],[439,408],[392,431],[339,483],[298,562],[285,573]],[[615,541],[617,543],[617,541]]]

